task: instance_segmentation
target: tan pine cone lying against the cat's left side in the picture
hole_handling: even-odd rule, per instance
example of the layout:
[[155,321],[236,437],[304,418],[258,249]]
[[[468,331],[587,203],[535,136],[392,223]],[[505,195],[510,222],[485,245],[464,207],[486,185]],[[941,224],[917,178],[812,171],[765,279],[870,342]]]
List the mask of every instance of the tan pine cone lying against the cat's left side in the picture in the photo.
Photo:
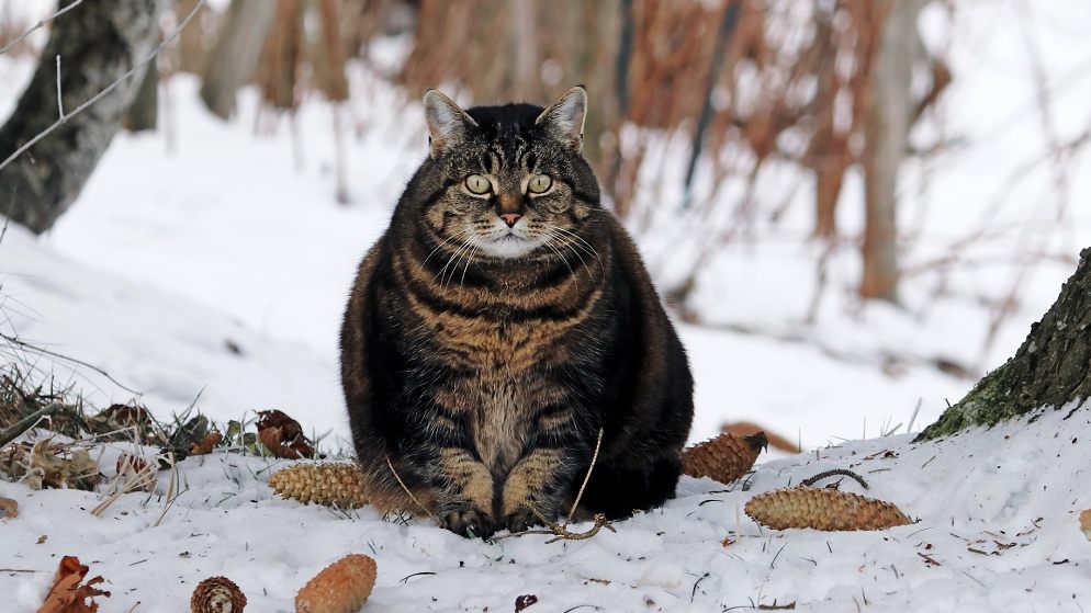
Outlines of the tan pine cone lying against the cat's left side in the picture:
[[363,473],[355,464],[296,464],[269,477],[269,486],[307,504],[357,509],[368,503]]

